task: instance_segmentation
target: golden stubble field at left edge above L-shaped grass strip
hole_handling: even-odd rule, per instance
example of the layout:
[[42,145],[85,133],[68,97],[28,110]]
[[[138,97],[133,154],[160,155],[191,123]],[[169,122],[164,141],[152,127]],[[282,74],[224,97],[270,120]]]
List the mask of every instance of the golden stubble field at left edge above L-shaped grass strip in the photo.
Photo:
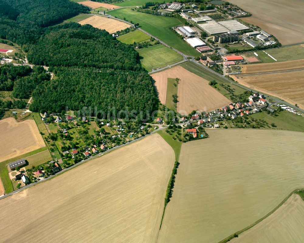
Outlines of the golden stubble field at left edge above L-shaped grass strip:
[[17,122],[14,118],[0,121],[0,162],[45,146],[35,121]]

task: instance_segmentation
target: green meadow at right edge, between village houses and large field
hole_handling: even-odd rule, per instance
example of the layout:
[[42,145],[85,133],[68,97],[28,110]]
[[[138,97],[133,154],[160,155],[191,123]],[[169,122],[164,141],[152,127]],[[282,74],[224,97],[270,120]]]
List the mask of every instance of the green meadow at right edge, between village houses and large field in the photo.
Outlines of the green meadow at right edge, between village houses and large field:
[[268,124],[275,123],[277,129],[304,132],[304,117],[288,111],[281,111],[278,116],[270,116],[265,112],[250,115],[256,119],[263,119]]

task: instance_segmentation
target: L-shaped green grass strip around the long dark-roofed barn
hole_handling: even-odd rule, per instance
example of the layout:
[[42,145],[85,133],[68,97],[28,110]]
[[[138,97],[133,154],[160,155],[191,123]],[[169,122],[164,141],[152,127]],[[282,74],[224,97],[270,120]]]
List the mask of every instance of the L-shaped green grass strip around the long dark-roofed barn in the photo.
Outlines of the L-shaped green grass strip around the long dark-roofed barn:
[[31,151],[31,152],[28,152],[26,154],[21,154],[21,155],[15,157],[15,158],[11,158],[11,159],[0,162],[0,177],[1,177],[1,181],[2,181],[3,186],[4,186],[5,193],[10,193],[10,192],[13,191],[12,182],[9,179],[9,172],[7,170],[6,165],[13,162],[13,161],[16,161],[18,159],[26,158],[28,156],[40,153],[40,152],[45,151],[45,150],[47,150],[47,147],[38,148],[38,149],[36,149],[34,151]]

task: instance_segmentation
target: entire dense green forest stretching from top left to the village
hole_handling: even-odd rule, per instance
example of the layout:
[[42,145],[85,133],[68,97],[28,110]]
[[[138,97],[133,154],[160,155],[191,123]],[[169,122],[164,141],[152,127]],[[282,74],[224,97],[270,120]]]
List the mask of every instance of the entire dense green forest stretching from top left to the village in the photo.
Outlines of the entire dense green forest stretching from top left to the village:
[[29,62],[49,66],[56,74],[50,80],[34,68],[31,75],[0,81],[14,98],[32,95],[32,111],[61,112],[66,106],[74,110],[91,106],[105,112],[108,107],[137,113],[156,109],[153,79],[132,46],[90,25],[56,25],[77,12],[88,12],[87,7],[68,0],[4,0],[1,4],[0,38],[20,44]]

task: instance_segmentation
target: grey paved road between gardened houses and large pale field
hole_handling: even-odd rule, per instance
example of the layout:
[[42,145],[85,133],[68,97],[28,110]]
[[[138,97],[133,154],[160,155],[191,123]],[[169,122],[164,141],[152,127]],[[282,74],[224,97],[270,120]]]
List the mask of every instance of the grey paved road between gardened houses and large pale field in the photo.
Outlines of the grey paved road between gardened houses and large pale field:
[[[182,124],[182,123],[181,123],[181,124]],[[180,125],[180,124],[179,124],[179,125]],[[77,164],[75,164],[75,165],[72,165],[72,166],[69,167],[69,168],[66,168],[66,169],[63,169],[63,170],[60,171],[60,172],[57,172],[55,175],[50,175],[50,176],[49,176],[48,178],[46,178],[46,179],[42,179],[42,180],[40,180],[40,181],[38,181],[38,182],[31,183],[31,184],[29,184],[29,185],[27,185],[27,186],[24,186],[24,187],[22,187],[22,188],[20,188],[20,189],[18,189],[18,190],[16,190],[16,191],[13,191],[13,192],[11,192],[11,193],[8,193],[8,194],[6,194],[6,195],[4,195],[4,196],[0,196],[0,200],[3,199],[3,198],[5,198],[5,197],[11,196],[11,195],[13,195],[13,194],[15,194],[15,193],[19,193],[19,192],[21,192],[21,191],[23,191],[23,190],[25,190],[25,189],[27,189],[27,188],[29,188],[29,187],[35,186],[35,185],[38,184],[38,183],[44,182],[44,181],[46,181],[46,180],[48,180],[48,179],[51,179],[51,178],[53,178],[54,176],[57,176],[57,175],[59,175],[59,174],[61,174],[61,173],[64,173],[64,172],[66,172],[66,171],[68,171],[68,170],[70,170],[70,169],[72,169],[72,168],[74,168],[74,167],[76,167],[76,166],[78,166],[78,165],[81,165],[82,163],[85,163],[85,162],[87,162],[87,161],[89,161],[89,160],[91,160],[91,159],[97,158],[97,157],[99,157],[99,156],[101,156],[101,155],[103,155],[103,154],[109,153],[109,152],[111,152],[111,151],[113,151],[113,150],[115,150],[115,149],[121,148],[121,147],[123,147],[123,146],[126,146],[126,145],[128,145],[128,144],[134,143],[134,142],[136,142],[136,141],[140,141],[140,140],[143,139],[144,137],[147,137],[147,136],[149,136],[149,135],[151,135],[151,134],[154,134],[154,133],[156,133],[156,132],[158,132],[158,131],[160,131],[160,130],[163,130],[163,129],[165,129],[166,127],[167,127],[167,126],[165,126],[165,127],[160,127],[160,128],[158,128],[158,129],[152,131],[150,134],[147,134],[146,136],[137,138],[137,139],[135,139],[135,140],[133,140],[133,141],[130,141],[129,143],[122,144],[122,145],[116,146],[116,147],[114,147],[114,148],[108,149],[108,150],[106,150],[106,151],[104,151],[104,152],[102,152],[102,153],[93,155],[92,157],[87,158],[87,159],[85,159],[85,160],[82,160],[82,161],[80,161],[79,163],[77,163]]]

